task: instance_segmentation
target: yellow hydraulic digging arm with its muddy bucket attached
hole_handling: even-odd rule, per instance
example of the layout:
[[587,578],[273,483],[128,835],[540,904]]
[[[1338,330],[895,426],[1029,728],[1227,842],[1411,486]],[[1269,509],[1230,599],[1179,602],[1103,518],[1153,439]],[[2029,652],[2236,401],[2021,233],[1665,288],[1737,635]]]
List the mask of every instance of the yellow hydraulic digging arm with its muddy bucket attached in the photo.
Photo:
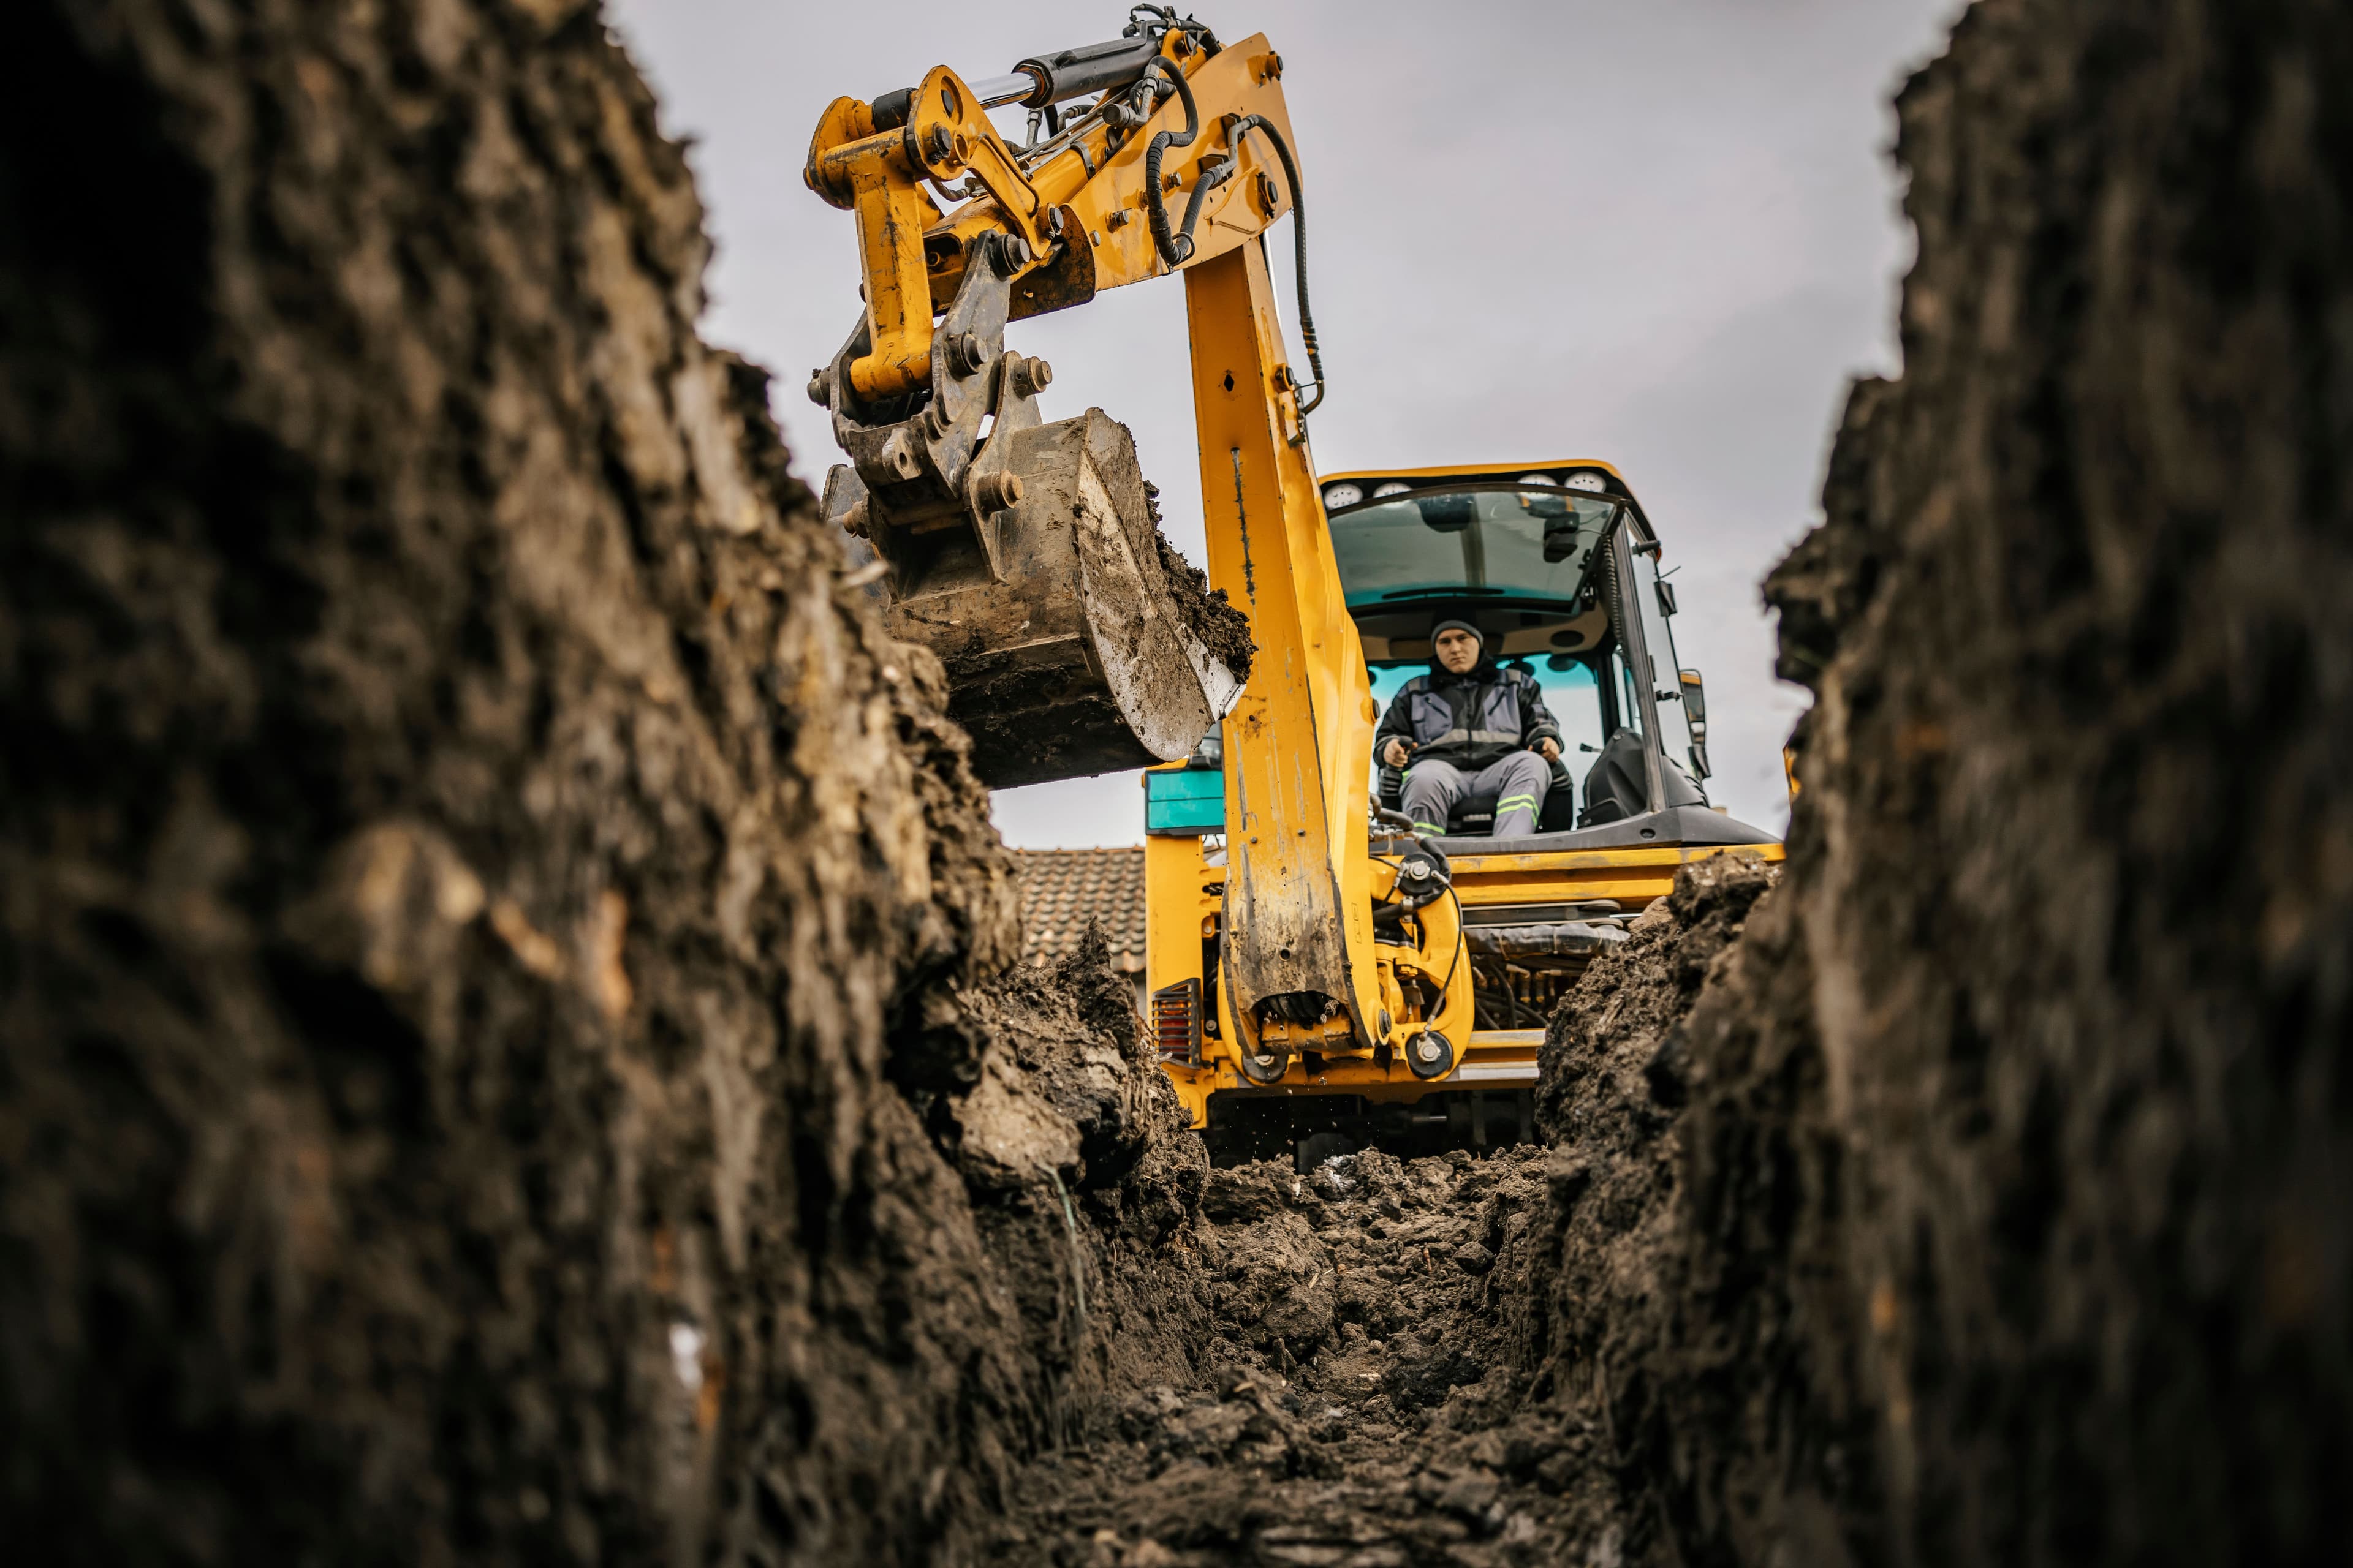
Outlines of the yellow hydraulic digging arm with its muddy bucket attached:
[[[826,512],[871,555],[892,630],[941,656],[988,783],[1174,759],[1224,717],[1217,1048],[1242,1077],[1301,1053],[1442,1077],[1471,1027],[1459,905],[1435,851],[1369,851],[1377,712],[1308,451],[1304,230],[1313,390],[1261,242],[1299,212],[1282,56],[1134,14],[1127,38],[1007,78],[939,66],[826,108],[805,179],[856,214],[866,299],[809,378],[852,458]],[[1031,110],[1026,146],[988,120],[1007,103]],[[1040,423],[1052,371],[1005,348],[1007,322],[1167,273],[1186,275],[1207,576],[1247,616],[1247,682],[1169,607],[1125,428]]]

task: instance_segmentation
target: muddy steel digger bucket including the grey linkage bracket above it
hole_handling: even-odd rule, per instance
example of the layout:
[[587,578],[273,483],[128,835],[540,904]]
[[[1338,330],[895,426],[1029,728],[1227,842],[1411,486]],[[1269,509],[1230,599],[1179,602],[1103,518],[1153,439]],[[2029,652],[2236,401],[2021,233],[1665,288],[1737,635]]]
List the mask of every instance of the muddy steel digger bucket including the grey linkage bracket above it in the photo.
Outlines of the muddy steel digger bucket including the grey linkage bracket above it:
[[972,242],[918,390],[856,390],[868,320],[809,378],[849,454],[826,520],[880,562],[868,592],[892,635],[948,668],[991,788],[1174,762],[1249,675],[1249,623],[1162,543],[1127,425],[1040,423],[1054,371],[1005,348],[1026,254]]

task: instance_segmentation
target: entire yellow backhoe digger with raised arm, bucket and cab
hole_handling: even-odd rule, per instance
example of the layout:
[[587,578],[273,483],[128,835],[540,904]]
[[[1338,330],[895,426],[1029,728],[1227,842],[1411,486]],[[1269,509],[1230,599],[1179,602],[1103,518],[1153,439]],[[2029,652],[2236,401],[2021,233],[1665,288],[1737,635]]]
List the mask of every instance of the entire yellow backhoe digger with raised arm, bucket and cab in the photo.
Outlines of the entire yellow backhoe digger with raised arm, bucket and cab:
[[[939,66],[835,99],[805,179],[856,214],[866,310],[809,378],[852,458],[824,508],[892,632],[941,658],[986,783],[1148,769],[1151,1025],[1214,1154],[1506,1143],[1527,1135],[1541,1020],[1591,954],[1685,860],[1781,846],[1706,802],[1704,686],[1673,661],[1661,545],[1612,465],[1318,480],[1280,80],[1264,35],[1221,45],[1139,5],[1120,38],[1000,78]],[[988,118],[1014,106],[1019,143]],[[1285,212],[1311,378],[1261,240]],[[1049,367],[1005,348],[1007,322],[1167,273],[1207,597],[1158,536],[1127,430],[1099,409],[1045,423]],[[1445,618],[1562,715],[1527,837],[1480,837],[1478,797],[1447,832],[1414,827],[1374,766],[1381,698]]]

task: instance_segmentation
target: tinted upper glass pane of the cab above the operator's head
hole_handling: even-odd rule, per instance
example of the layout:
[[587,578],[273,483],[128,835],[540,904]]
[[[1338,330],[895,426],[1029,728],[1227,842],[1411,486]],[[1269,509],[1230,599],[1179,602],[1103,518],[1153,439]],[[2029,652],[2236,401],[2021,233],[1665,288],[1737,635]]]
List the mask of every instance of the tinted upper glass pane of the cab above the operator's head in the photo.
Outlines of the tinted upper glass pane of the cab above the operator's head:
[[1569,489],[1421,489],[1332,512],[1348,609],[1494,595],[1572,602],[1621,501]]

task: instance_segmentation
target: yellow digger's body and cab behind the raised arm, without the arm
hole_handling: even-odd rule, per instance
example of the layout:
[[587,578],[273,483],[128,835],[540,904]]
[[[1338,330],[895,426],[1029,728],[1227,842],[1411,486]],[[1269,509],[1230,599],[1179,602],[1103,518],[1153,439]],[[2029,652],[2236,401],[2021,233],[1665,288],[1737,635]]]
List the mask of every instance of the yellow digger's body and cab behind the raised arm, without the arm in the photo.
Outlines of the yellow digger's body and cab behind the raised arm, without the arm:
[[1365,853],[1395,867],[1374,905],[1374,950],[1412,929],[1417,903],[1442,898],[1454,950],[1440,985],[1468,976],[1468,1030],[1438,1025],[1428,1060],[1419,1041],[1388,1056],[1318,1051],[1280,1077],[1228,1044],[1224,733],[1146,771],[1146,985],[1160,1056],[1221,1159],[1297,1150],[1306,1168],[1372,1143],[1525,1143],[1544,1023],[1593,954],[1626,940],[1682,863],[1725,851],[1779,860],[1781,844],[1708,804],[1706,686],[1675,661],[1675,583],[1614,465],[1344,473],[1322,480],[1320,498],[1374,705],[1431,670],[1435,623],[1468,621],[1501,668],[1541,689],[1562,752],[1534,832],[1511,839],[1489,835],[1497,802],[1478,795],[1428,832],[1440,825],[1398,811],[1400,771],[1374,771]]

